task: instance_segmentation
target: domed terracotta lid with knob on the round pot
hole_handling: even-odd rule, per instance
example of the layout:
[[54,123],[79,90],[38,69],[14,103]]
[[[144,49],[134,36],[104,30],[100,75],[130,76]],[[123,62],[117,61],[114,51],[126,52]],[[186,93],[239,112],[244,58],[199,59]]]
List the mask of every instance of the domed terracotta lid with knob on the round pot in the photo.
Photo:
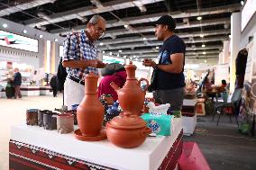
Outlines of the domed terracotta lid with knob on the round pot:
[[114,117],[108,124],[114,128],[138,129],[146,127],[146,122],[138,115],[132,112],[123,112],[123,114]]

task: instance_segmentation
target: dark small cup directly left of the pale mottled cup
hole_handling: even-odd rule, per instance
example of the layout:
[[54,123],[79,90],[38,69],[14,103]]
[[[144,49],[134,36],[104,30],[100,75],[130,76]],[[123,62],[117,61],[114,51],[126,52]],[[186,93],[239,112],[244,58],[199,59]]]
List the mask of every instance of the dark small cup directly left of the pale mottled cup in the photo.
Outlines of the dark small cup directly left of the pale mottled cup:
[[57,113],[46,112],[43,114],[43,129],[57,130]]

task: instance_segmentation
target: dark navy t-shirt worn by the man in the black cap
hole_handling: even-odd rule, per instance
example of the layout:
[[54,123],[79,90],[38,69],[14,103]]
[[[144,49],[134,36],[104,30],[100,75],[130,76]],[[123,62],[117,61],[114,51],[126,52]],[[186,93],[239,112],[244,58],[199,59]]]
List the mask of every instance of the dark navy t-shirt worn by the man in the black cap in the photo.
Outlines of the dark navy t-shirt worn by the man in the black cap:
[[168,90],[175,89],[185,86],[185,77],[183,75],[184,65],[185,65],[185,51],[186,45],[183,40],[181,40],[177,35],[172,35],[168,40],[165,40],[163,46],[160,48],[158,59],[161,60],[159,62],[160,65],[168,65],[171,64],[171,60],[169,58],[170,55],[175,53],[183,53],[184,61],[183,68],[181,73],[168,73],[162,70],[159,70],[158,76],[158,85],[157,90]]

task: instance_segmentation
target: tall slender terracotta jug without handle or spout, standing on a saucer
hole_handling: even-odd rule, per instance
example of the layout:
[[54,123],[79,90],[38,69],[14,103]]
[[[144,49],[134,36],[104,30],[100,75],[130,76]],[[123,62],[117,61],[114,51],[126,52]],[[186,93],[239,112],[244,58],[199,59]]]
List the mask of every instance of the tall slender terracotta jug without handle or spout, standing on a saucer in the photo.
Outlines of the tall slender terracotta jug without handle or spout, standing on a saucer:
[[85,77],[85,96],[77,108],[78,127],[82,136],[98,136],[102,129],[104,107],[97,97],[97,79],[94,73]]

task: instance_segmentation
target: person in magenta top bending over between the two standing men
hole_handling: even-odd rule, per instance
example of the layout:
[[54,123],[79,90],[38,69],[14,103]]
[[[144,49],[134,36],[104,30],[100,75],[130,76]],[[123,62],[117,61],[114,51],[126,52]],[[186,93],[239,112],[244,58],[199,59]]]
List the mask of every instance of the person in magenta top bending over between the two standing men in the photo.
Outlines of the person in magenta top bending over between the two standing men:
[[98,97],[101,97],[103,94],[111,94],[114,101],[117,101],[118,96],[110,84],[114,82],[115,85],[121,88],[123,87],[127,76],[123,65],[117,63],[106,65],[106,67],[101,70],[101,75],[104,77],[98,85]]

